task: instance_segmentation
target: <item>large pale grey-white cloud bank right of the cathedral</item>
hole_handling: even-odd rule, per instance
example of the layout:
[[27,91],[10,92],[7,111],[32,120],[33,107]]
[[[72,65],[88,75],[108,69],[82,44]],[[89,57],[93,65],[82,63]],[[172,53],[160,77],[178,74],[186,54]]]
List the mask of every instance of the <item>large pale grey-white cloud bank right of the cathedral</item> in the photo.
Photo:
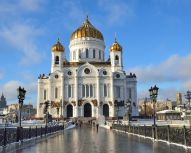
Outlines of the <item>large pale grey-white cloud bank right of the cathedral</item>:
[[184,81],[191,78],[191,54],[173,55],[158,65],[130,68],[140,83]]

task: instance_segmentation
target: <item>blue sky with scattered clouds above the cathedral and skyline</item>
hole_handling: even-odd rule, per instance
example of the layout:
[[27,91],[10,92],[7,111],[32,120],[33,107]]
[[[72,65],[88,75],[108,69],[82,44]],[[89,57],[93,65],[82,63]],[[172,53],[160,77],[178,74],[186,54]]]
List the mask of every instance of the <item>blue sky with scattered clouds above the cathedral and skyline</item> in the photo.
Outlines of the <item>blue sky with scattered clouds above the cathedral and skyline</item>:
[[36,104],[37,77],[48,74],[51,47],[69,40],[85,16],[104,35],[106,59],[117,33],[124,69],[137,74],[138,97],[157,84],[160,99],[191,88],[190,0],[1,0],[0,92],[16,103],[16,88]]

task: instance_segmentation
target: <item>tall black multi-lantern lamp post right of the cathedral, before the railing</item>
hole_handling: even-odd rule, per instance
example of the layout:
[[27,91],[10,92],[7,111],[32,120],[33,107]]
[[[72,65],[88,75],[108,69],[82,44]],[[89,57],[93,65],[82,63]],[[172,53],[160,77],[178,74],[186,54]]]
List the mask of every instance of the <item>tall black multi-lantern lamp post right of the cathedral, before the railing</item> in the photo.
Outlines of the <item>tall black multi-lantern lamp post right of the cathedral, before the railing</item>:
[[150,98],[153,103],[153,117],[154,117],[154,139],[156,138],[155,133],[155,126],[156,126],[156,102],[157,102],[157,96],[158,96],[158,87],[155,85],[154,87],[151,87],[149,89]]

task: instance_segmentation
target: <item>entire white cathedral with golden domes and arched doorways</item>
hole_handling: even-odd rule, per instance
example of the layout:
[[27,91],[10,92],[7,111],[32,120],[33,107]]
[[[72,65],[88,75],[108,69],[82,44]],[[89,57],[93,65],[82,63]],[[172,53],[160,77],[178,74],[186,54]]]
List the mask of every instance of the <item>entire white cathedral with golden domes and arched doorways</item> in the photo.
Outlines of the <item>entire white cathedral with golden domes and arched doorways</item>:
[[123,70],[123,49],[114,39],[105,60],[102,33],[86,17],[70,37],[70,59],[58,40],[52,47],[49,75],[38,77],[37,117],[123,117],[128,108],[137,116],[137,79]]

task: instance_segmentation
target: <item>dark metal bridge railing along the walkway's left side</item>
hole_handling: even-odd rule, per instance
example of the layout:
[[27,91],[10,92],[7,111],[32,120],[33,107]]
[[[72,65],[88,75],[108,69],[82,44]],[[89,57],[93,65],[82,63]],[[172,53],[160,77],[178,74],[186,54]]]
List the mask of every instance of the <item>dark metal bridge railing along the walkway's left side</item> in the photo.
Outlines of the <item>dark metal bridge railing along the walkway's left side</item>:
[[[67,124],[66,124],[67,126]],[[63,125],[0,128],[0,146],[64,130]]]

